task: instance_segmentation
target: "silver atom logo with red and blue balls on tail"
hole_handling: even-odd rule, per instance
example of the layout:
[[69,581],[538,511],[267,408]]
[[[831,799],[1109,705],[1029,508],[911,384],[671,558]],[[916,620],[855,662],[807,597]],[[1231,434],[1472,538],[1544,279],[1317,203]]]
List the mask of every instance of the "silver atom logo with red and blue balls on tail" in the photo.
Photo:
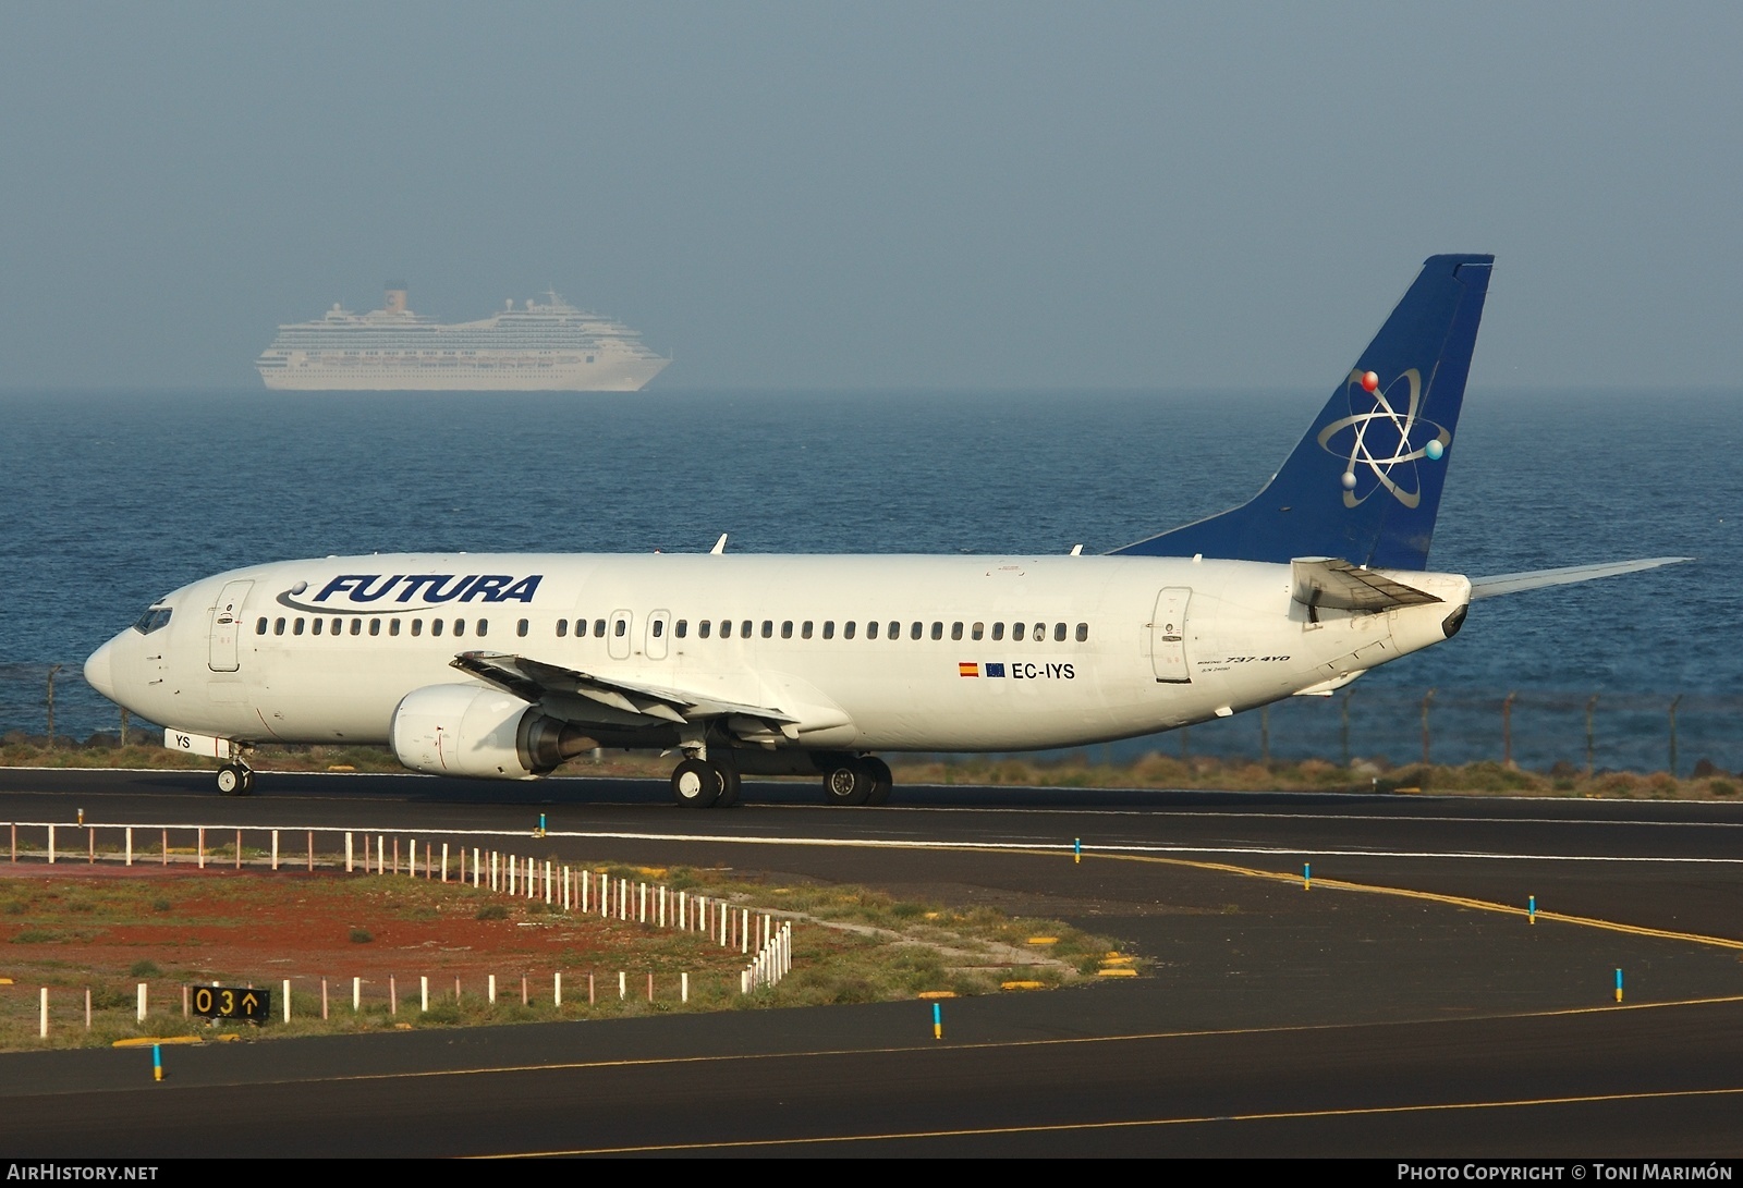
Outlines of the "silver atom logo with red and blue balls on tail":
[[[1417,458],[1438,462],[1452,434],[1419,416],[1422,373],[1401,373],[1384,388],[1372,371],[1351,371],[1346,383],[1349,416],[1319,430],[1319,446],[1344,467],[1344,507],[1361,507],[1380,488],[1405,507],[1422,502]],[[1347,441],[1344,434],[1349,434]]]

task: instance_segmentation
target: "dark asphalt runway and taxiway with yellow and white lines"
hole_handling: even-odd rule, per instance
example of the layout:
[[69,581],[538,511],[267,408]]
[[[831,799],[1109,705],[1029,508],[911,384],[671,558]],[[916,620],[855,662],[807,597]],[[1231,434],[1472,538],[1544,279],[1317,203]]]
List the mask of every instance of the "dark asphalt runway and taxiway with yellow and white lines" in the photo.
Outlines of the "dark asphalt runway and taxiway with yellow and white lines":
[[[12,1155],[1546,1155],[1743,1148],[1724,803],[0,770],[0,820],[371,829],[1065,918],[1152,974],[1048,995],[0,1056]],[[483,833],[474,833],[483,831]],[[1070,843],[1082,838],[1084,861]],[[1314,887],[1300,885],[1312,864]],[[3,866],[0,866],[3,869]],[[1279,878],[1286,876],[1286,878]],[[1529,925],[1527,895],[1555,913]],[[1614,969],[1628,974],[1614,1005]],[[223,1122],[234,1118],[235,1122]]]

